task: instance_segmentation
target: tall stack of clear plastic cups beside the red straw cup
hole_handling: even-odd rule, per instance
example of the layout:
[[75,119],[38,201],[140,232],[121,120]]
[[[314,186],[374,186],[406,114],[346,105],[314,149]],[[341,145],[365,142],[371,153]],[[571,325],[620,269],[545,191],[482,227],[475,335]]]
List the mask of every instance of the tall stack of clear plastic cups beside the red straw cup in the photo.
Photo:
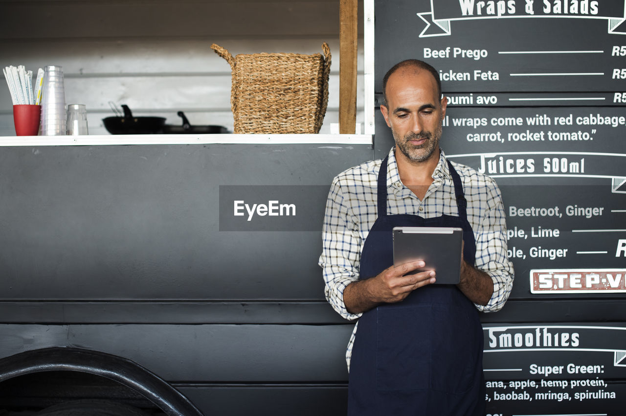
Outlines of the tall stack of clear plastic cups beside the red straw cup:
[[44,68],[41,90],[41,135],[64,135],[66,121],[63,68],[49,65]]

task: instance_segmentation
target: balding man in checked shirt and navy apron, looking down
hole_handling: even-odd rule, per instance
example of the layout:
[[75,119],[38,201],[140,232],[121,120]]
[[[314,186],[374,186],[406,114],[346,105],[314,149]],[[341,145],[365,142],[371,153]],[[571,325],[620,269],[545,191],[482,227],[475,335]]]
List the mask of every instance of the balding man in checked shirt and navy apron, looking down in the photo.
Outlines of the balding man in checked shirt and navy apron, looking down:
[[[446,98],[427,63],[398,63],[381,112],[396,147],[339,174],[326,205],[326,298],[359,321],[346,358],[350,415],[485,415],[478,311],[497,311],[513,283],[495,182],[439,148]],[[433,284],[423,261],[394,268],[394,226],[463,228],[457,285]]]

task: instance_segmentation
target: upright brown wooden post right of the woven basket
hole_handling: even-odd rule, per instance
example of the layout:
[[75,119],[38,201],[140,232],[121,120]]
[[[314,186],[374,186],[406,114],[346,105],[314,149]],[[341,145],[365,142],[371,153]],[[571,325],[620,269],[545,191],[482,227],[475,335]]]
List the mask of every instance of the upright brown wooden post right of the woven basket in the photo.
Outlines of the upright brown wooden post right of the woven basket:
[[339,133],[354,134],[359,0],[339,0]]

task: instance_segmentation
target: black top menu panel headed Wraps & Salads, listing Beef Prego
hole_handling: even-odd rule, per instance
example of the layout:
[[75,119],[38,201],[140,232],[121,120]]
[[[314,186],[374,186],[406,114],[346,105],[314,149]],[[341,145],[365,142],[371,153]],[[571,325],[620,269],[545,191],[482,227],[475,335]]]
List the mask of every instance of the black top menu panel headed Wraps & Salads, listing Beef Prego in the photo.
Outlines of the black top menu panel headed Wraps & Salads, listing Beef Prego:
[[623,105],[625,9],[620,0],[377,1],[375,89],[399,60],[418,58],[439,70],[446,94],[473,93],[470,105]]

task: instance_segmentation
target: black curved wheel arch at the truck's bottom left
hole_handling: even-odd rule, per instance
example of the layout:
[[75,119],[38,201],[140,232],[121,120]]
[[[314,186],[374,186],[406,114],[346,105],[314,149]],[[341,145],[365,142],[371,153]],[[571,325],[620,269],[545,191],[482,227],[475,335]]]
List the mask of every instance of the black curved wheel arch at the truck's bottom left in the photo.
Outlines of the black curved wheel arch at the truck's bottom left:
[[51,347],[0,359],[0,383],[30,373],[73,371],[108,378],[143,395],[168,416],[203,416],[190,400],[135,361],[94,350]]

